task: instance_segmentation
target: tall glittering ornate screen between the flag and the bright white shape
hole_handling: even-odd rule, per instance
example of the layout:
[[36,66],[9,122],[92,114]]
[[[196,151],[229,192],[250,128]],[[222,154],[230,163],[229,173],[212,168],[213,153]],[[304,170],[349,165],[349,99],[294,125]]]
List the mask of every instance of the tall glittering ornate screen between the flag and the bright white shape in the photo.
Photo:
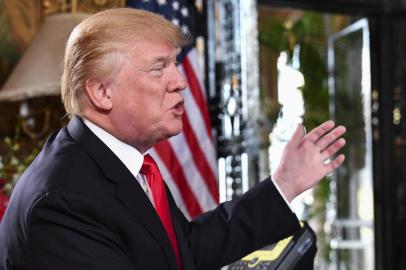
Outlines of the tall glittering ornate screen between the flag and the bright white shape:
[[255,1],[208,1],[207,18],[207,78],[224,201],[241,195],[258,180]]

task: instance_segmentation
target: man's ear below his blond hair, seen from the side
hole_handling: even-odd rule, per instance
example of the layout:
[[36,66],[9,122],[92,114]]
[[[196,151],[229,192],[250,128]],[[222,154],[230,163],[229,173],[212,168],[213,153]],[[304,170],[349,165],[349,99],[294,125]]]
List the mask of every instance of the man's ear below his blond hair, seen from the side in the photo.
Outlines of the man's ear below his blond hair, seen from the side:
[[87,95],[92,104],[99,110],[109,111],[113,107],[111,89],[99,79],[87,79],[85,82]]

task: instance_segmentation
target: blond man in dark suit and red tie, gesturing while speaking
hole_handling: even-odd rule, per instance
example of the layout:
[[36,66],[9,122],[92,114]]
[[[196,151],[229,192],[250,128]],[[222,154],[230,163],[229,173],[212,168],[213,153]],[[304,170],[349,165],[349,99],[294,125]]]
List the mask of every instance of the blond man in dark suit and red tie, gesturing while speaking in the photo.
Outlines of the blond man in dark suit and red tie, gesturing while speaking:
[[191,222],[159,181],[144,155],[182,130],[176,55],[186,42],[162,17],[135,9],[100,12],[74,29],[62,80],[72,119],[14,189],[0,269],[210,270],[299,229],[285,200],[344,160],[325,163],[345,144],[332,121],[308,135],[298,127],[272,179]]

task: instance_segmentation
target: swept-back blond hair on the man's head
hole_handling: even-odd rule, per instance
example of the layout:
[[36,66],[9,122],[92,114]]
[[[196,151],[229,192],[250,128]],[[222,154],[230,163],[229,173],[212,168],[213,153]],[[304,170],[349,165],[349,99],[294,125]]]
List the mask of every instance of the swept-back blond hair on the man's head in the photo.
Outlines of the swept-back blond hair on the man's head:
[[137,40],[159,37],[184,46],[190,36],[164,17],[133,8],[117,8],[96,13],[75,27],[67,42],[61,95],[68,115],[81,115],[89,104],[87,79],[111,79]]

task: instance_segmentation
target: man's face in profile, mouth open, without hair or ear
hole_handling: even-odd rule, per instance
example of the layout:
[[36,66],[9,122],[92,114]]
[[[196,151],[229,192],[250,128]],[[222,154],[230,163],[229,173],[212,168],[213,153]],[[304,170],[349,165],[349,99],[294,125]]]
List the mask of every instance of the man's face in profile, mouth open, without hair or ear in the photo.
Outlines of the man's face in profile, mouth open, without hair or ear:
[[137,42],[112,83],[114,133],[142,152],[182,131],[186,82],[177,53],[162,39]]

